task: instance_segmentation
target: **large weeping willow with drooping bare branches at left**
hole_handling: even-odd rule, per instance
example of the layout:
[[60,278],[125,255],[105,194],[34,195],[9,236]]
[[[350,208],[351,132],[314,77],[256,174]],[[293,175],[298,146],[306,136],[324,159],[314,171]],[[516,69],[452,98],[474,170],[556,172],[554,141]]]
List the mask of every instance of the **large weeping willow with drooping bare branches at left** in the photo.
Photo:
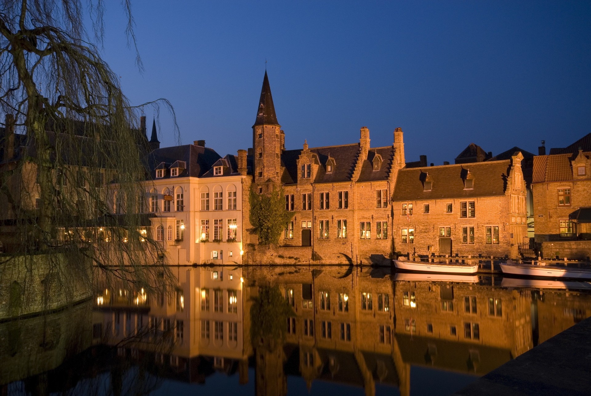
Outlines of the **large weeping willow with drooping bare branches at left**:
[[[0,5],[0,265],[18,259],[33,272],[47,266],[46,294],[60,288],[73,297],[69,285],[92,282],[88,263],[138,288],[166,278],[162,248],[142,214],[149,191],[142,105],[129,103],[98,50],[104,6],[102,0]],[[129,1],[122,7],[135,47]],[[137,63],[141,70],[139,56]],[[171,110],[163,99],[147,104],[162,103]]]

